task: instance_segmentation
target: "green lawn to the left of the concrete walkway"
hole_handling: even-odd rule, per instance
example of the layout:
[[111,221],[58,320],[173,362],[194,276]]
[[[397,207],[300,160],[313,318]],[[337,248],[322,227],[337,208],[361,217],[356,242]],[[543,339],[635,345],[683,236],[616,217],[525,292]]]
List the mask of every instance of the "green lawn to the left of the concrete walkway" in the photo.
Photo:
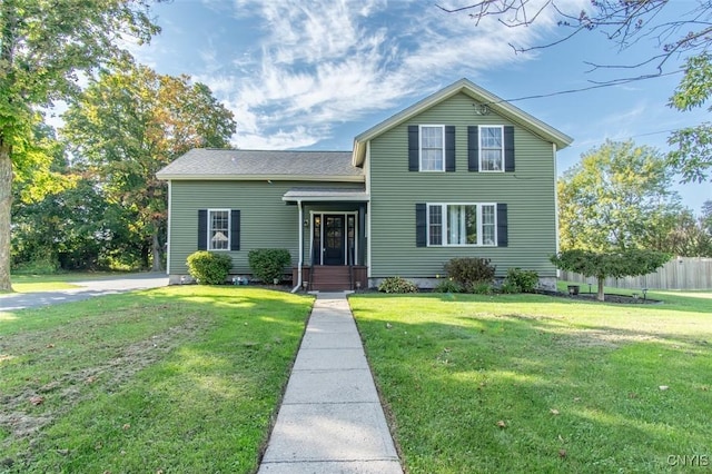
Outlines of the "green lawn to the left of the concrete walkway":
[[0,313],[0,472],[255,472],[310,305],[178,286]]

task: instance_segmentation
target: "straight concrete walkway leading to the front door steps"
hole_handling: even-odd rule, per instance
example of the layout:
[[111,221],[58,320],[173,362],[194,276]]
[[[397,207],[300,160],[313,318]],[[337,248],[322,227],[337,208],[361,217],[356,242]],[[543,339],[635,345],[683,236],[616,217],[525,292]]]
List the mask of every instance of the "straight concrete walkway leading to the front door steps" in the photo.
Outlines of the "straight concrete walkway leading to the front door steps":
[[259,474],[403,474],[356,323],[319,294]]

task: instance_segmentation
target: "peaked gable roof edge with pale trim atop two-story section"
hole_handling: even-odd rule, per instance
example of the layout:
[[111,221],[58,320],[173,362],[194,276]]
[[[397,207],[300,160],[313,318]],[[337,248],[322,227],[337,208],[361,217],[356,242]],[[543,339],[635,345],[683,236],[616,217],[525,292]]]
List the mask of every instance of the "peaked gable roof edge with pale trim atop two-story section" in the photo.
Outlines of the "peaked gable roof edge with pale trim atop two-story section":
[[532,131],[534,135],[537,135],[546,141],[555,144],[558,149],[567,147],[573,141],[573,138],[571,138],[566,134],[558,131],[555,128],[544,124],[543,121],[532,117],[525,111],[504,101],[494,93],[481,88],[479,86],[476,86],[474,82],[467,79],[461,79],[457,82],[454,82],[446,88],[441,89],[439,91],[426,97],[419,102],[414,103],[407,109],[399,111],[393,117],[356,136],[356,138],[354,138],[354,166],[362,166],[362,164],[364,162],[364,158],[366,156],[366,144],[368,141],[373,140],[382,134],[385,134],[392,128],[411,120],[413,117],[423,112],[424,110],[427,110],[431,107],[441,103],[461,92],[472,97],[481,105],[485,105],[494,113],[502,116],[511,120],[512,122],[522,126],[523,128],[526,128],[527,130]]

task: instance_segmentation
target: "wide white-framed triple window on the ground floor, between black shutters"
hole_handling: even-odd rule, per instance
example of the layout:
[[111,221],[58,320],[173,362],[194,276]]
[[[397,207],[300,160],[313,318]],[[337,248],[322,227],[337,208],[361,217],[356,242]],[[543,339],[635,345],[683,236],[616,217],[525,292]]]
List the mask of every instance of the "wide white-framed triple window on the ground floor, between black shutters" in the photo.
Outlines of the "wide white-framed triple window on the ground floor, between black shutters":
[[497,245],[497,205],[437,203],[427,205],[428,246]]

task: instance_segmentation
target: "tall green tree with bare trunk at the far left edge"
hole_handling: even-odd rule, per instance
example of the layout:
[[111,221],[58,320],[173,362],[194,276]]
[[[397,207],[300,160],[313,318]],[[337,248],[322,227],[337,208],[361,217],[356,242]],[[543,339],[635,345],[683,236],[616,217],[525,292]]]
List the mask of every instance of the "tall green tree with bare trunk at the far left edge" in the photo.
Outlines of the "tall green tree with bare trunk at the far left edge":
[[127,53],[117,45],[131,36],[147,41],[158,31],[149,0],[0,1],[0,290],[10,280],[13,168],[36,152],[38,109],[79,90],[78,75]]

